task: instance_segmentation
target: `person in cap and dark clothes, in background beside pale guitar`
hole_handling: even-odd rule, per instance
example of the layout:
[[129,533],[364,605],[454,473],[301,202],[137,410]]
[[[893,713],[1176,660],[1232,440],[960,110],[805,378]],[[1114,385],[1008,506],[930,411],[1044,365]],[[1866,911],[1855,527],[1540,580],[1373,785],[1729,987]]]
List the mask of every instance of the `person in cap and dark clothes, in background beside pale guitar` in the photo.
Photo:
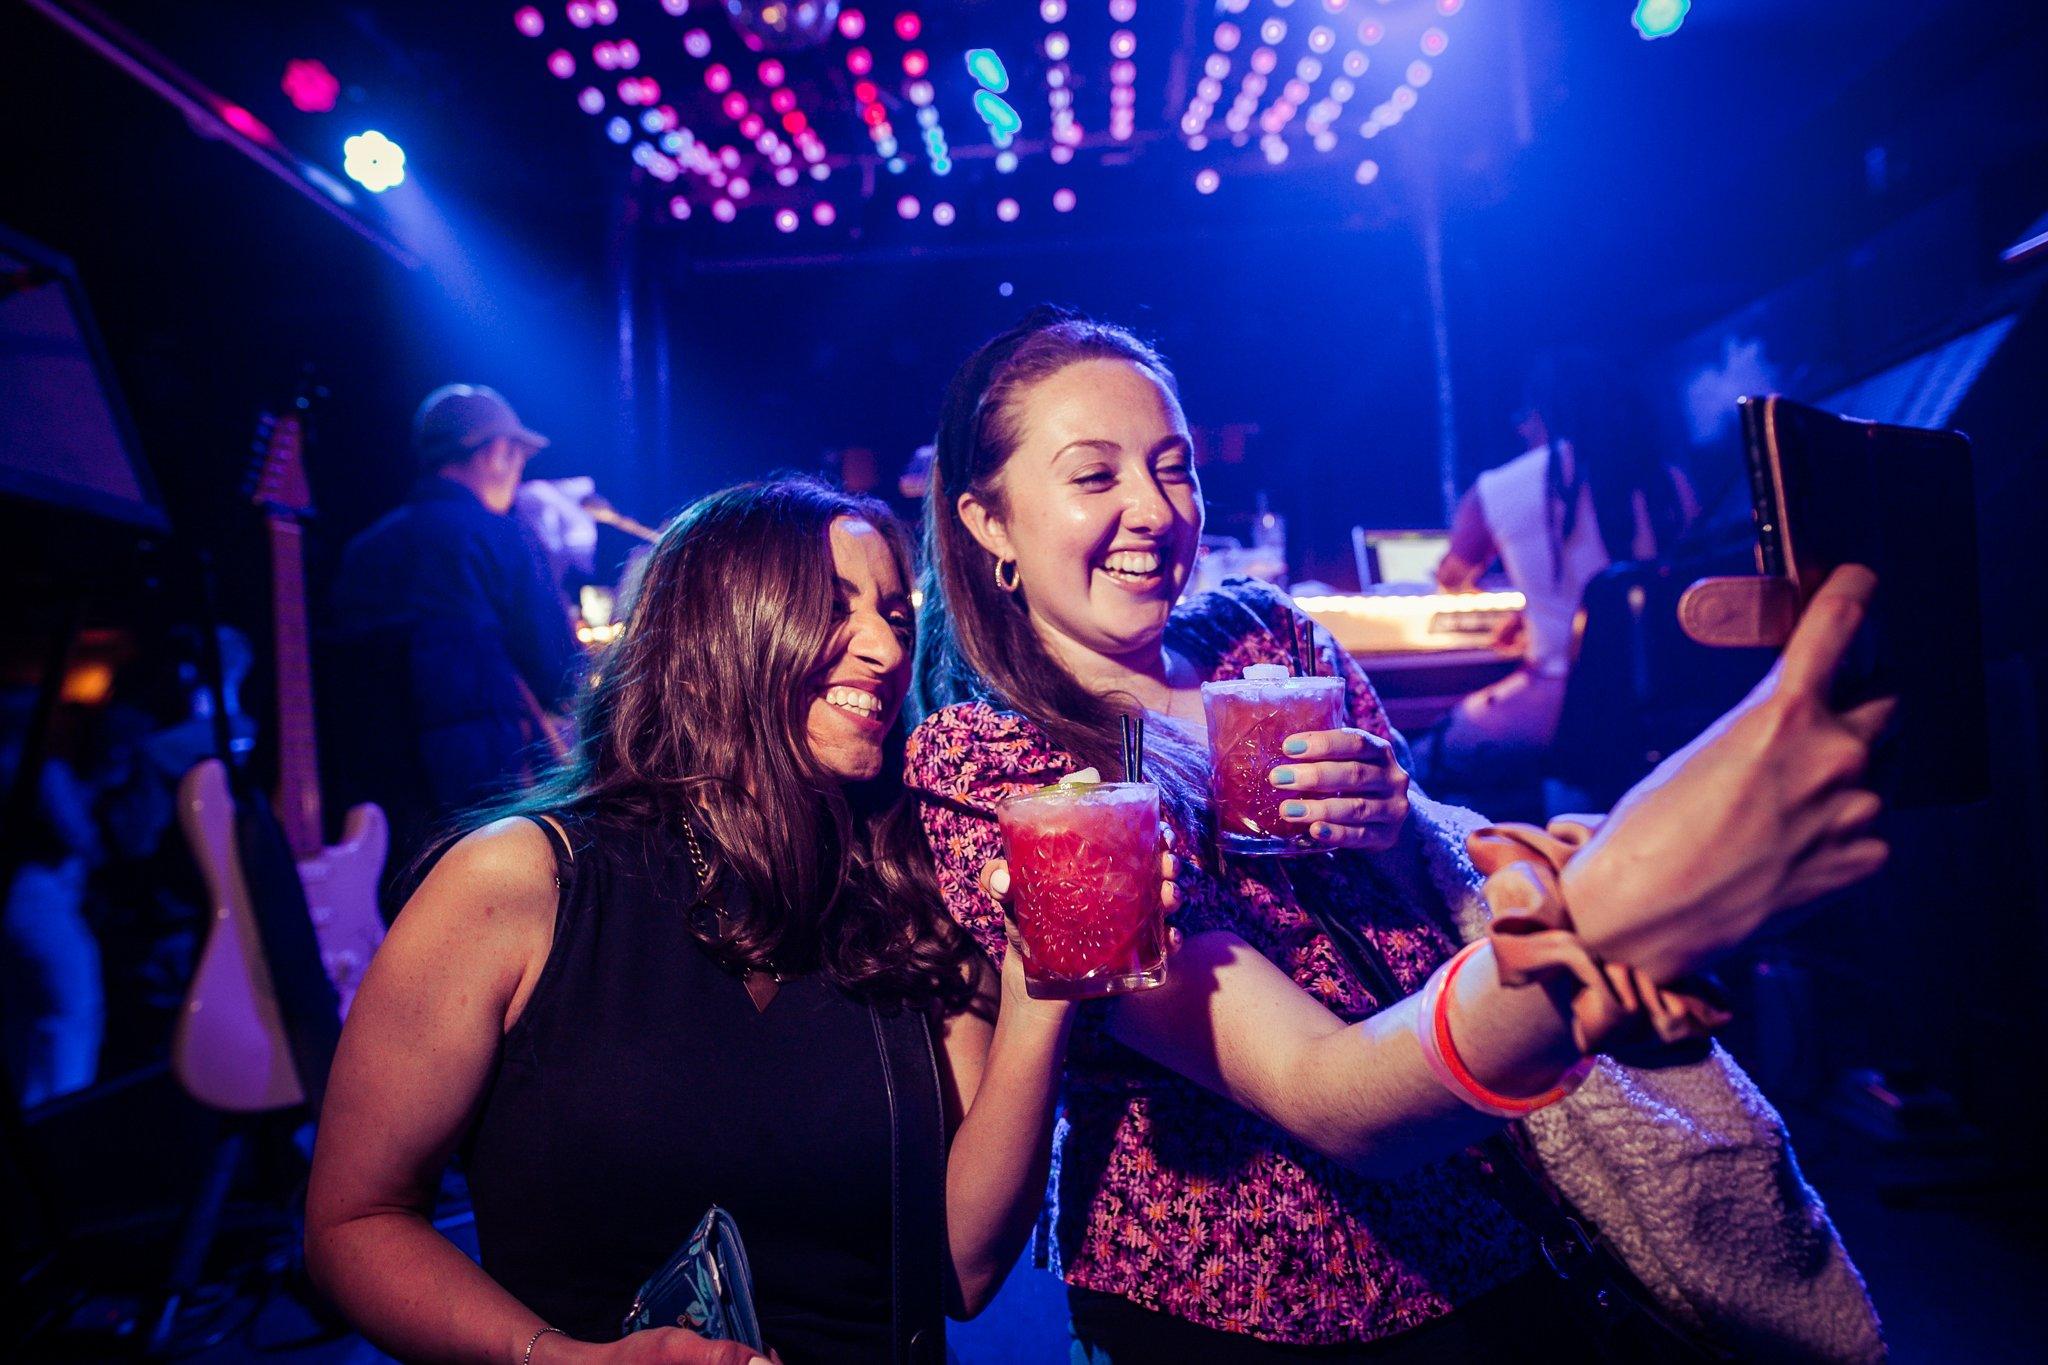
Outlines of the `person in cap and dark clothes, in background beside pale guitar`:
[[[575,636],[512,516],[547,436],[496,389],[444,385],[412,422],[420,481],[342,555],[334,608],[346,743],[336,786],[385,806],[393,868],[436,823],[522,782],[573,688]],[[543,714],[547,712],[547,714]]]

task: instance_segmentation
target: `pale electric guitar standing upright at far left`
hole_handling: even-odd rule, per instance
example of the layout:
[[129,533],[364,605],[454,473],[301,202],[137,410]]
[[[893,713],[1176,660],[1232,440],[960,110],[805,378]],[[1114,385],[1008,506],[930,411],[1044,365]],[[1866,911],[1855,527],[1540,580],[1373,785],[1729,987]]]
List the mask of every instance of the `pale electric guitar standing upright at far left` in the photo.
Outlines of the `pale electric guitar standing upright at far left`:
[[[340,997],[354,1001],[371,956],[383,941],[377,880],[383,876],[389,825],[377,806],[348,812],[342,841],[324,843],[319,753],[313,739],[313,671],[305,626],[301,522],[311,514],[303,463],[303,409],[266,422],[256,505],[270,538],[270,618],[276,639],[276,819],[299,866],[305,905],[319,939],[319,960]],[[236,804],[219,759],[195,765],[178,784],[178,825],[207,882],[211,925],[199,970],[178,1013],[172,1068],[193,1099],[252,1113],[305,1099],[270,984],[256,907],[236,847]]]

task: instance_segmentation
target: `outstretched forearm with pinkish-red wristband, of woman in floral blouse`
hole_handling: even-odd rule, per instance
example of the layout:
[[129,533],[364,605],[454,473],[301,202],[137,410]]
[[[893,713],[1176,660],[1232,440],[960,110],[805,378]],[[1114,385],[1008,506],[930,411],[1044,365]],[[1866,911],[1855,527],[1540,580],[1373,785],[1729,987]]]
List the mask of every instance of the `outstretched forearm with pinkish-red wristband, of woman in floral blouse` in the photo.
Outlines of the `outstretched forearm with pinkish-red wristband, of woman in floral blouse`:
[[[1419,999],[1343,1023],[1235,935],[1204,933],[1167,984],[1118,1003],[1112,1031],[1364,1175],[1393,1177],[1499,1130],[1444,1089],[1415,1040]],[[1503,986],[1479,950],[1448,1001],[1458,1056],[1489,1089],[1534,1095],[1577,1060],[1563,1005]]]

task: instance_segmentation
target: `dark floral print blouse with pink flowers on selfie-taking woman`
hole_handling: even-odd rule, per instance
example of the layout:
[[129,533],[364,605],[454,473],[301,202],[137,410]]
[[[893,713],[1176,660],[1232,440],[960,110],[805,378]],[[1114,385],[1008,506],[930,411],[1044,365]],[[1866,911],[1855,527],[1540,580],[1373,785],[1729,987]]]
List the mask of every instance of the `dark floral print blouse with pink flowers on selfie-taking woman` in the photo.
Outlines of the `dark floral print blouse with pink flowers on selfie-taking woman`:
[[[1176,608],[1167,645],[1206,679],[1251,663],[1348,681],[1352,724],[1395,737],[1372,684],[1286,593],[1247,579]],[[938,710],[909,739],[907,782],[952,915],[999,962],[1001,907],[977,878],[1001,855],[993,808],[1077,763],[1014,712],[987,702]],[[1403,993],[1456,950],[1444,907],[1382,876],[1382,855],[1221,860],[1186,831],[1180,927],[1229,929],[1343,1019],[1378,1001],[1305,905],[1358,923]],[[1444,835],[1415,829],[1403,847]],[[1083,1007],[1067,1062],[1049,1201],[1067,1283],[1122,1295],[1200,1326],[1272,1342],[1366,1342],[1450,1312],[1530,1269],[1534,1244],[1458,1154],[1411,1175],[1366,1179],[1272,1124],[1116,1044]]]

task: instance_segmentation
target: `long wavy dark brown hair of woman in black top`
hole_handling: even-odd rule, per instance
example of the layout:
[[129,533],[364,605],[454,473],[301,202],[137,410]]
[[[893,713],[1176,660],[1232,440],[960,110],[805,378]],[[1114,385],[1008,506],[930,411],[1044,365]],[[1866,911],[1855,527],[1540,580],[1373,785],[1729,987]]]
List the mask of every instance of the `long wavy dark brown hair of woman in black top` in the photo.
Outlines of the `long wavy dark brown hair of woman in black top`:
[[809,679],[834,636],[831,524],[887,536],[911,581],[911,542],[879,501],[809,477],[743,483],[662,532],[578,710],[578,747],[506,812],[594,814],[709,835],[717,876],[748,911],[713,952],[733,966],[821,970],[850,990],[958,1009],[969,941],[903,792],[903,720],[883,772],[846,784],[805,737]]

